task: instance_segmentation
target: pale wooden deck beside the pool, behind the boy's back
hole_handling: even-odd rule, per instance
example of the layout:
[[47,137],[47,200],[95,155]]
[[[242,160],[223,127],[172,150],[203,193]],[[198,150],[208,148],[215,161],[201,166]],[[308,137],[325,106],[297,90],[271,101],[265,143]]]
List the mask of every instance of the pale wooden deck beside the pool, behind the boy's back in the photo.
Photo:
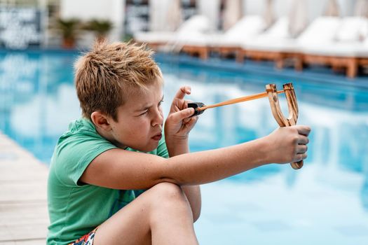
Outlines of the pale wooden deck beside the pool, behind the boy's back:
[[48,167],[0,133],[0,245],[46,244]]

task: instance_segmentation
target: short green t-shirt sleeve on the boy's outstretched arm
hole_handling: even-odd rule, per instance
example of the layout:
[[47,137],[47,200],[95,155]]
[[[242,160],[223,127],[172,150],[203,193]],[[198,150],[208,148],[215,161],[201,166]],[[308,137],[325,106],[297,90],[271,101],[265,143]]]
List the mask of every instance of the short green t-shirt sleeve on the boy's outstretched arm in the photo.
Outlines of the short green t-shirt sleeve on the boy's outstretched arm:
[[90,162],[112,148],[116,146],[106,139],[74,135],[56,149],[55,174],[67,186],[81,186],[79,179]]

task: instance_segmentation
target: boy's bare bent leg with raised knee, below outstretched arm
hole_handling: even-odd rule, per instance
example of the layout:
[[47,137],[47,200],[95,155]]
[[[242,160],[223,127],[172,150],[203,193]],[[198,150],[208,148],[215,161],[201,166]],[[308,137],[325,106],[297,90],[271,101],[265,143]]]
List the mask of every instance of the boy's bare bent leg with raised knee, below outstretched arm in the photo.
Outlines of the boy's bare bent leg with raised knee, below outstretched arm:
[[93,244],[198,244],[182,188],[159,183],[146,190],[100,225]]

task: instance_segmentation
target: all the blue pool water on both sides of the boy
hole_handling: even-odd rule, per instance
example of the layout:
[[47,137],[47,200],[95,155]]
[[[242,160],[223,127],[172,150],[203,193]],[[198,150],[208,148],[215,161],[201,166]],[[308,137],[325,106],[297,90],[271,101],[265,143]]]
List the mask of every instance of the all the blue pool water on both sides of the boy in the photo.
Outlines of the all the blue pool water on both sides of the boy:
[[[0,52],[0,131],[46,164],[57,138],[81,114],[73,87],[76,55]],[[203,185],[195,225],[200,244],[367,244],[367,77],[347,80],[323,69],[296,73],[217,59],[156,59],[165,78],[165,113],[181,85],[191,85],[189,99],[213,104],[263,92],[267,83],[292,82],[298,123],[313,129],[303,169],[268,165]],[[250,141],[276,127],[268,99],[209,109],[191,132],[191,151]]]

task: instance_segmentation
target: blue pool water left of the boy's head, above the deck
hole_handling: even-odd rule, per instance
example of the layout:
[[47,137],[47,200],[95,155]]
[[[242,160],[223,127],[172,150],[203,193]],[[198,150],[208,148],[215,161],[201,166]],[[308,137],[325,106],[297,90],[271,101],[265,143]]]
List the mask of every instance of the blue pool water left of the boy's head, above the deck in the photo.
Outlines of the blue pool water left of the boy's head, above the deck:
[[49,162],[79,103],[73,87],[74,55],[9,52],[0,55],[0,130]]

